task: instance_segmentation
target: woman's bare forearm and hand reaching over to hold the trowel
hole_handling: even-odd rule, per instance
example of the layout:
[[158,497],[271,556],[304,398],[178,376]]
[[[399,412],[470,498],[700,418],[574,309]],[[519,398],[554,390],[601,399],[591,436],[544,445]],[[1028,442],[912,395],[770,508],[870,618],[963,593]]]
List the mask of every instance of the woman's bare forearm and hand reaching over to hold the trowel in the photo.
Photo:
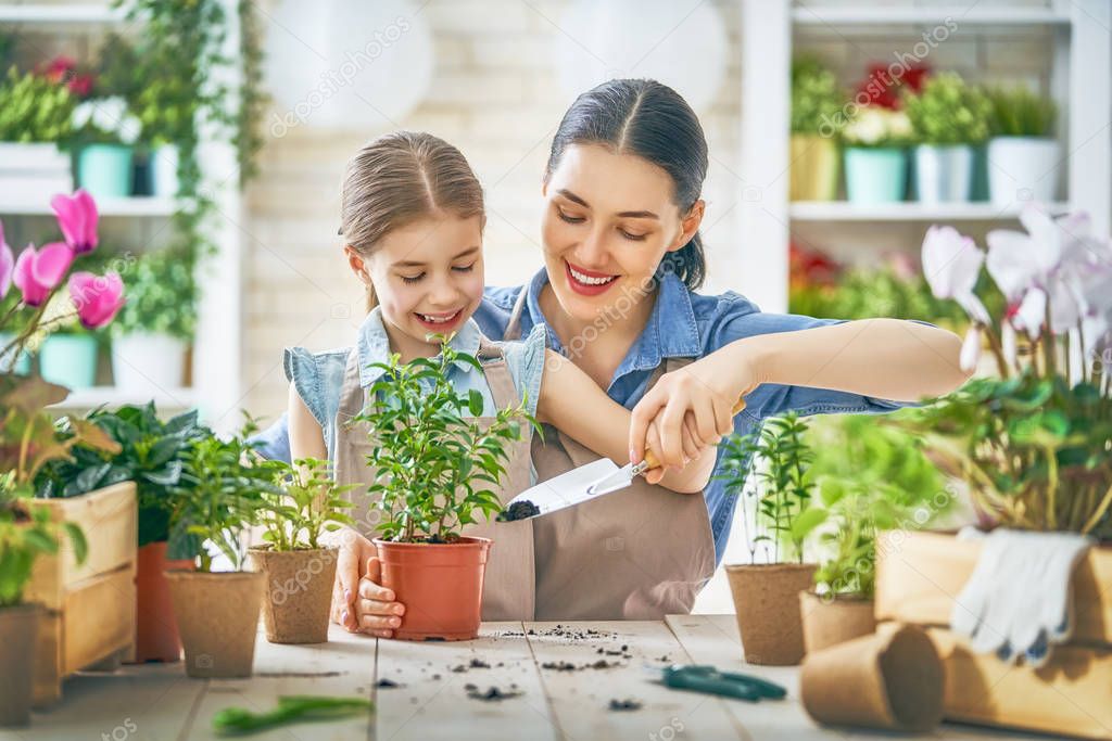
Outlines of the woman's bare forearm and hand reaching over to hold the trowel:
[[716,435],[733,429],[728,410],[734,402],[762,383],[895,401],[942,395],[970,377],[959,361],[961,344],[953,332],[898,319],[862,319],[734,340],[665,373],[633,410],[629,448],[639,460],[655,421],[663,447],[659,458],[675,464],[682,460],[686,414],[695,414],[699,443],[716,442]]

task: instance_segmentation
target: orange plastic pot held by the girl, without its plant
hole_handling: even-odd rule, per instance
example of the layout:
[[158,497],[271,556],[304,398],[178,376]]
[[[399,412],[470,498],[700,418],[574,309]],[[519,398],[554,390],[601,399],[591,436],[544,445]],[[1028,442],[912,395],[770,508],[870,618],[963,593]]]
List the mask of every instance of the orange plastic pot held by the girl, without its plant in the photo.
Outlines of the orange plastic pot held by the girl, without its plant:
[[478,637],[483,575],[493,541],[395,543],[375,539],[383,585],[406,605],[394,637],[404,641],[466,641]]

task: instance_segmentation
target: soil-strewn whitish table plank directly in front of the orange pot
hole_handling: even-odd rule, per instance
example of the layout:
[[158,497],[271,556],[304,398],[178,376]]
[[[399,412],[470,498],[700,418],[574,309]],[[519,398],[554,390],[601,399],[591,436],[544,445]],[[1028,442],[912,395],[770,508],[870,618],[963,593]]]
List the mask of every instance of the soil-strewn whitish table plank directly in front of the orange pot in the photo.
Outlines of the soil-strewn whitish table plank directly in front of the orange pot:
[[[489,668],[471,667],[473,660]],[[376,738],[383,741],[559,738],[518,622],[483,623],[473,641],[380,640],[377,681],[384,679],[401,687],[378,688]],[[520,694],[494,701],[471,697],[490,687]]]

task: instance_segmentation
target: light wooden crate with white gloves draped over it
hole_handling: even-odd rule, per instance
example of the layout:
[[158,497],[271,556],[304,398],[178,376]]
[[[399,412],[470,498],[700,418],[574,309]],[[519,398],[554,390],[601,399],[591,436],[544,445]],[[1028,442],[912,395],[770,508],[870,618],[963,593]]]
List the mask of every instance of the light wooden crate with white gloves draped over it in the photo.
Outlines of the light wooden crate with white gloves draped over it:
[[877,542],[876,618],[927,628],[945,668],[946,718],[1112,739],[1112,549],[1092,549],[1074,570],[1073,637],[1037,670],[973,653],[949,630],[980,552],[944,533],[895,531]]

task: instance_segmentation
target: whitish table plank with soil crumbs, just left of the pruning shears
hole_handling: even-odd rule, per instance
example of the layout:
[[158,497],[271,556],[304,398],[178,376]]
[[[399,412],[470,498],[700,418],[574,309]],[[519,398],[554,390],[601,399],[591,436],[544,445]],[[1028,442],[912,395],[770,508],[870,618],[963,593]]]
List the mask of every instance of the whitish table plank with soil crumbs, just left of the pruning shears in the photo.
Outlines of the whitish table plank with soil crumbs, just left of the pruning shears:
[[[649,668],[688,661],[683,647],[661,621],[526,623],[553,713],[565,739],[698,739],[744,738],[741,729],[714,695],[672,690],[658,682]],[[587,634],[588,630],[597,631]],[[568,635],[572,633],[572,635]],[[623,647],[625,647],[623,649]],[[603,653],[599,653],[599,649]],[[617,652],[608,655],[606,651]],[[614,665],[582,669],[597,661]],[[545,664],[567,662],[577,669],[562,671]],[[612,700],[635,700],[637,710],[609,709]]]

